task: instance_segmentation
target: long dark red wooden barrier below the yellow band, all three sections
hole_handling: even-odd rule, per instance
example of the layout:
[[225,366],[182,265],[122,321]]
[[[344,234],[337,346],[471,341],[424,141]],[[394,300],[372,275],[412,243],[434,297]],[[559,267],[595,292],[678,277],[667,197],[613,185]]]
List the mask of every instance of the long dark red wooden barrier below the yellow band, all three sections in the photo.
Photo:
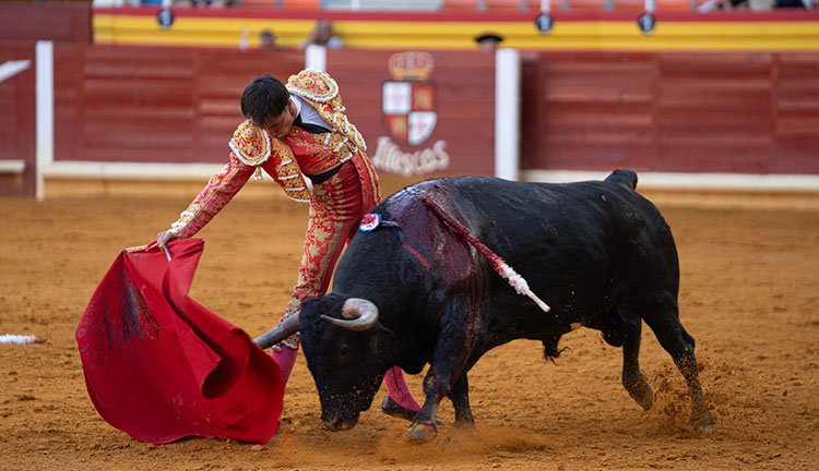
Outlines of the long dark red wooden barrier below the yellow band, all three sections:
[[[496,160],[507,154],[496,148],[505,133],[495,128],[505,120],[495,113],[494,55],[424,52],[436,64],[425,77],[435,89],[435,133],[423,145],[383,150],[400,141],[390,135],[382,99],[384,84],[395,80],[389,60],[403,52],[327,51],[325,65],[347,90],[370,156],[391,159],[380,169],[414,180],[497,174]],[[242,119],[244,86],[262,73],[286,76],[305,60],[299,50],[56,45],[55,152],[46,176],[201,179],[225,161],[226,142]],[[511,134],[521,136],[515,168],[526,179],[624,167],[680,176],[819,174],[819,53],[530,52],[522,62],[521,132]],[[446,167],[418,170],[441,152]],[[402,174],[407,167],[396,159],[414,167]],[[784,185],[809,190],[816,182]]]

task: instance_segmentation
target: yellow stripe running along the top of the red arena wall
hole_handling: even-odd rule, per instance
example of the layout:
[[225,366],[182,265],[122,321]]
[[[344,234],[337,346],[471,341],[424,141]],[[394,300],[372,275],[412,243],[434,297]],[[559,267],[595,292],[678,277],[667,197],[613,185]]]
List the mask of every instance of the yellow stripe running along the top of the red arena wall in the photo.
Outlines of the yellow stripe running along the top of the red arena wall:
[[[238,47],[247,28],[251,47],[269,28],[282,47],[296,47],[312,28],[310,20],[179,17],[163,31],[153,16],[94,15],[97,44]],[[347,47],[370,49],[474,49],[473,37],[495,31],[503,46],[539,50],[819,50],[819,22],[663,22],[642,34],[637,21],[557,21],[541,35],[527,22],[337,21]]]

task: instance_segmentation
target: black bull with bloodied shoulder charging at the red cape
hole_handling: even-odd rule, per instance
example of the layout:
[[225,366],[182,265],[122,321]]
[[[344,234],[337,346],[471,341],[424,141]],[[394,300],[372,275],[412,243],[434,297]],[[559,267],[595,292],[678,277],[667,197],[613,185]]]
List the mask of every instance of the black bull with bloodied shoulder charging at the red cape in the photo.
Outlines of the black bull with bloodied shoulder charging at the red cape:
[[[322,419],[333,430],[355,425],[392,365],[417,374],[429,363],[426,400],[411,426],[424,437],[435,433],[444,397],[456,424],[474,423],[466,375],[484,353],[524,338],[541,340],[554,358],[560,337],[579,326],[622,347],[622,385],[651,408],[639,366],[645,321],[687,382],[691,426],[710,431],[695,340],[679,322],[674,238],[636,186],[628,170],[603,182],[466,177],[408,186],[376,208],[389,222],[353,239],[332,293],[302,303],[300,326],[283,323],[257,341],[268,347],[300,328]],[[551,310],[518,294],[423,196],[502,257]]]

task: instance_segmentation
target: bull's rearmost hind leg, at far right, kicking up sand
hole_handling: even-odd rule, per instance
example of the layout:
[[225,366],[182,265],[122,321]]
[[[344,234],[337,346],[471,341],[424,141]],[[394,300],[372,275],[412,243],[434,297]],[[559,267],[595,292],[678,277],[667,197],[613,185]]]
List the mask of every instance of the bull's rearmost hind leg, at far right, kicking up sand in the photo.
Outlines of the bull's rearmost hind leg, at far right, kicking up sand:
[[686,378],[691,396],[691,428],[697,432],[711,432],[714,418],[705,408],[705,398],[697,371],[697,358],[693,354],[695,340],[679,323],[676,295],[669,292],[654,293],[637,311]]

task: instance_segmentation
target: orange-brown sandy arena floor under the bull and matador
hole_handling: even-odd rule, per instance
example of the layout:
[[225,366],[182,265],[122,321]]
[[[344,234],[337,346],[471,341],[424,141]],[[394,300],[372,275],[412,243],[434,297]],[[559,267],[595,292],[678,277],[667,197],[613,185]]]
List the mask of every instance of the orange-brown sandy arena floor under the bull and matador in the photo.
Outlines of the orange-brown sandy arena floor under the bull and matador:
[[[656,392],[649,412],[620,386],[620,351],[581,329],[561,340],[569,350],[557,364],[534,341],[487,354],[470,376],[477,428],[444,425],[429,444],[407,444],[404,423],[377,407],[352,431],[322,430],[299,355],[269,444],[155,446],[97,415],[74,329],[117,253],[150,242],[198,185],[138,196],[90,189],[44,203],[0,200],[0,334],[51,341],[0,346],[0,469],[819,468],[819,196],[654,197],[678,244],[681,319],[697,338],[713,435],[687,432],[685,384],[648,328],[641,361]],[[245,192],[201,232],[207,243],[192,297],[251,335],[263,331],[295,281],[305,224],[306,207],[280,190]],[[416,394],[420,378],[410,378]],[[451,424],[448,402],[441,416]]]

